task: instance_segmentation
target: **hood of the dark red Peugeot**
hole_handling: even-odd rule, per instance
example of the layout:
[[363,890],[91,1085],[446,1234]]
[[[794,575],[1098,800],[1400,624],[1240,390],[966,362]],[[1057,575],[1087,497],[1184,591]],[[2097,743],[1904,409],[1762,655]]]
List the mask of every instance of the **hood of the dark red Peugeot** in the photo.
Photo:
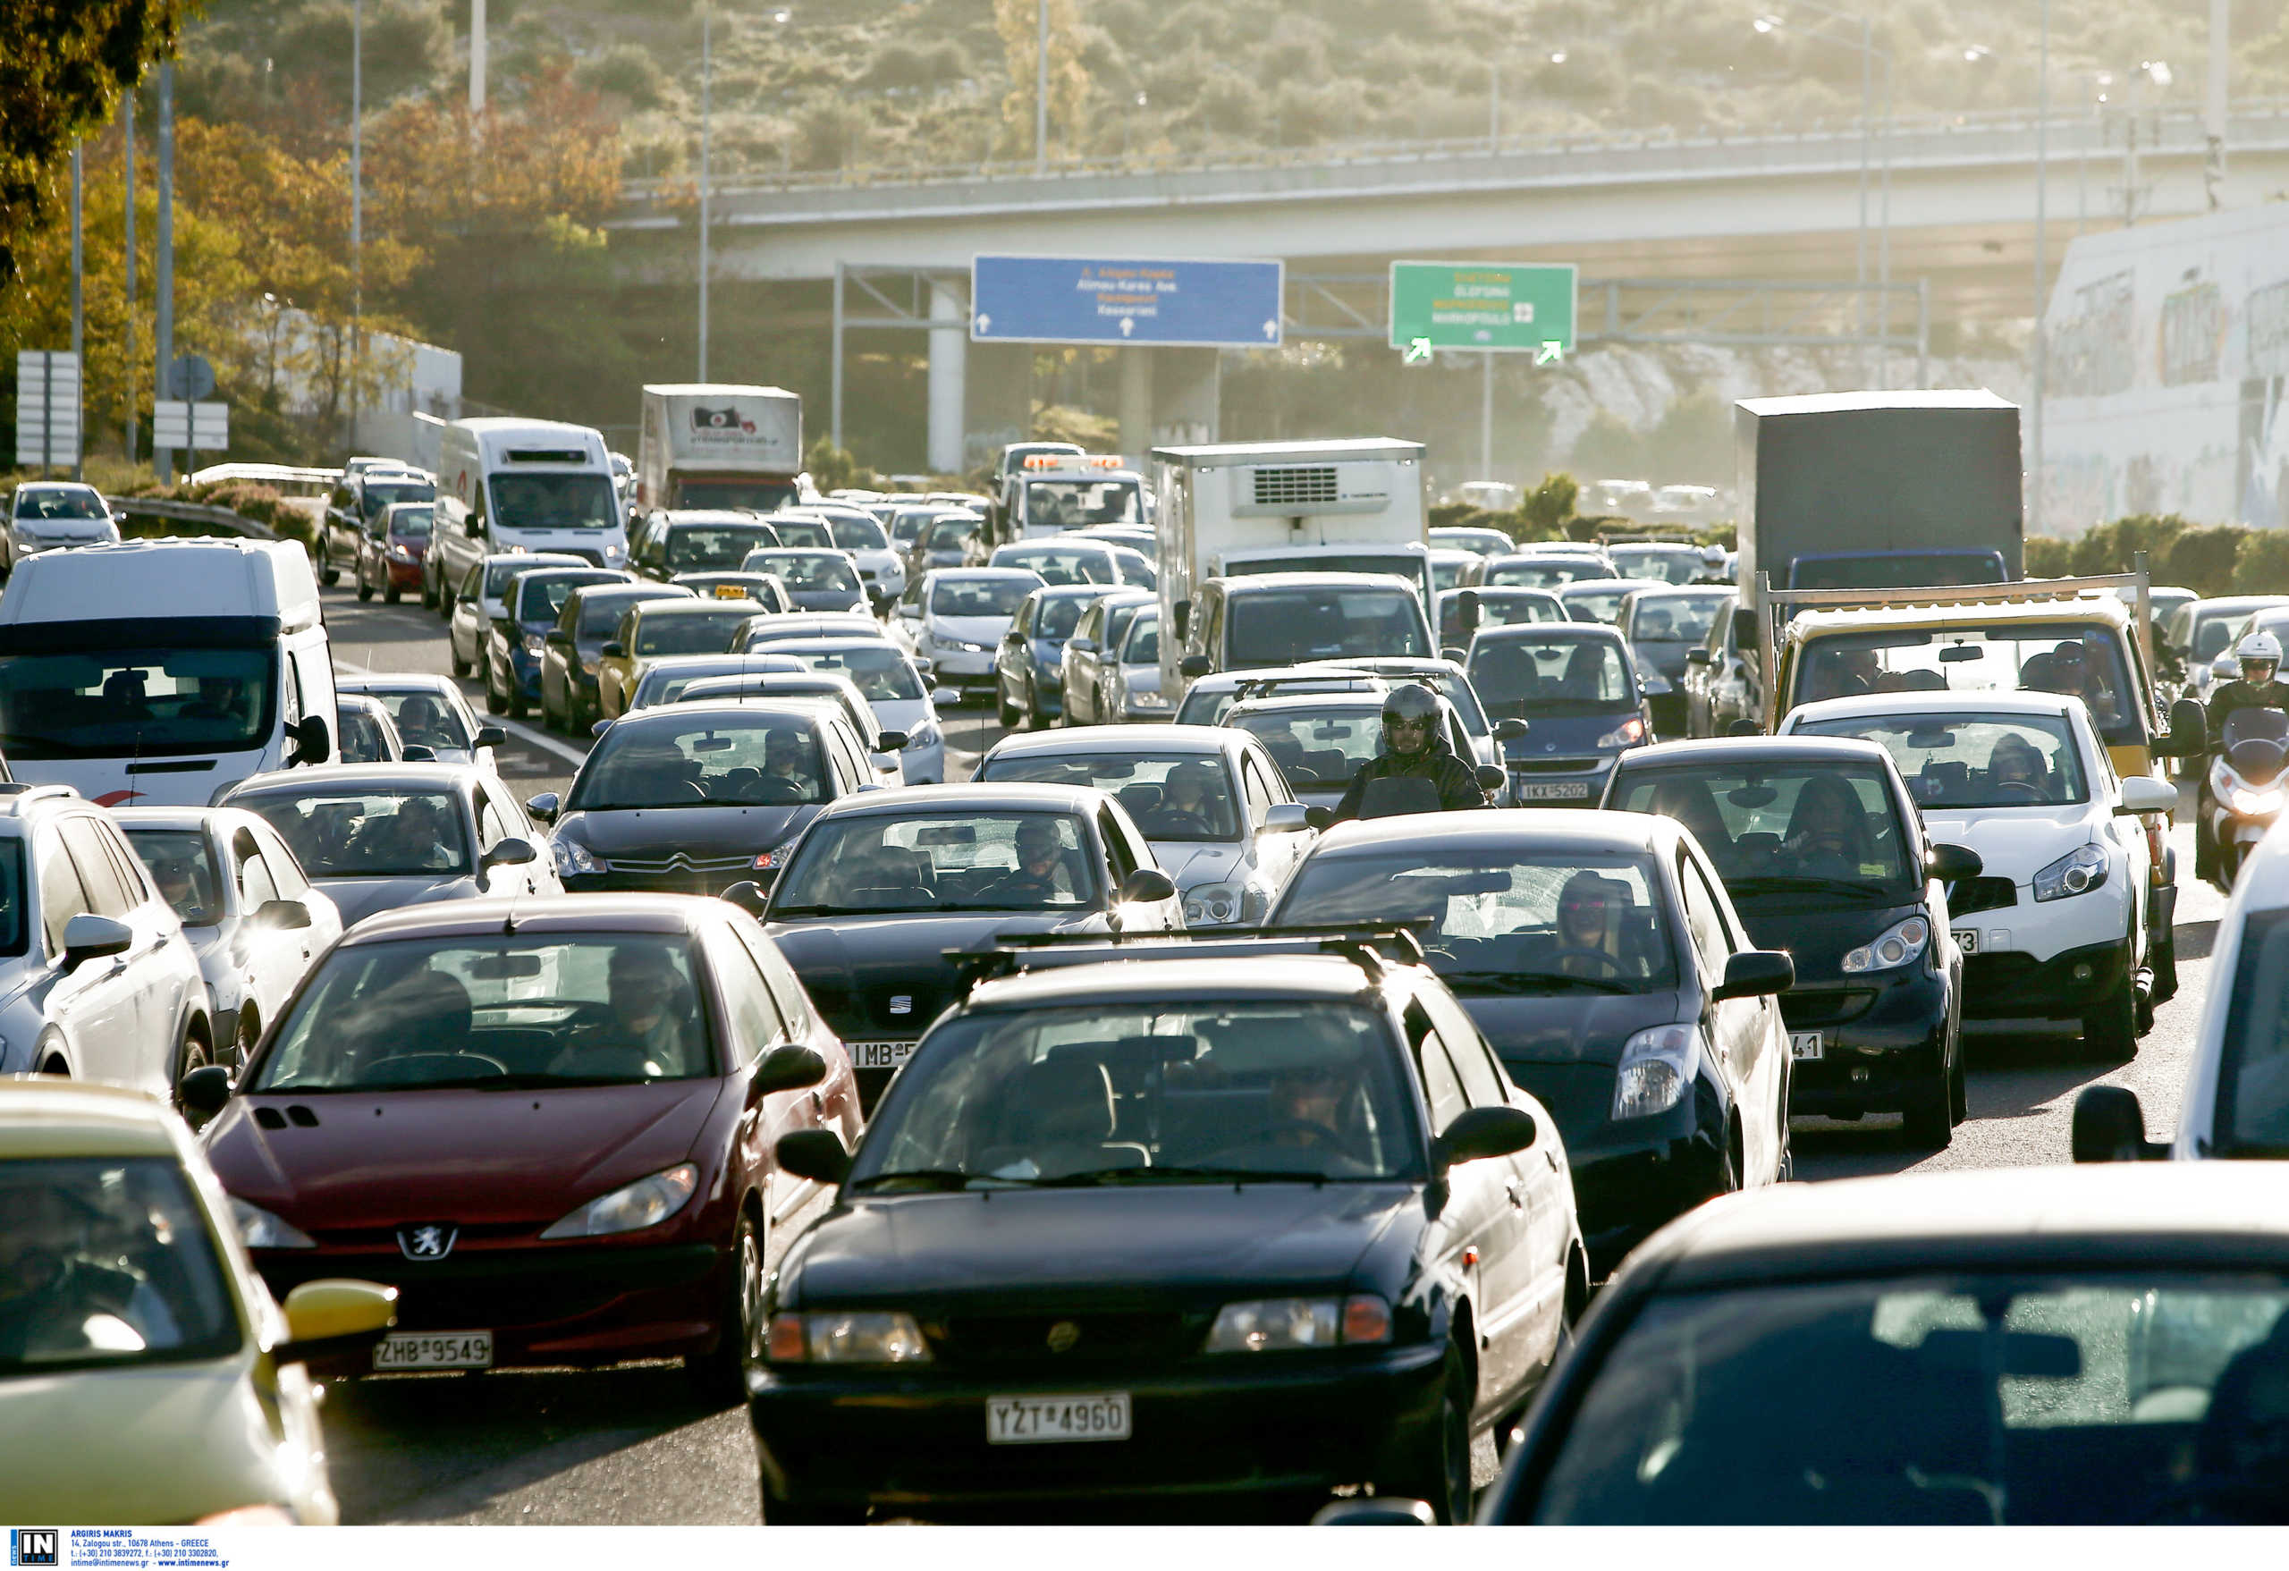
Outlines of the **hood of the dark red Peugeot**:
[[[547,1227],[691,1154],[716,1079],[563,1090],[233,1097],[206,1136],[224,1189],[309,1232],[451,1221]],[[263,1129],[254,1108],[309,1108]]]

